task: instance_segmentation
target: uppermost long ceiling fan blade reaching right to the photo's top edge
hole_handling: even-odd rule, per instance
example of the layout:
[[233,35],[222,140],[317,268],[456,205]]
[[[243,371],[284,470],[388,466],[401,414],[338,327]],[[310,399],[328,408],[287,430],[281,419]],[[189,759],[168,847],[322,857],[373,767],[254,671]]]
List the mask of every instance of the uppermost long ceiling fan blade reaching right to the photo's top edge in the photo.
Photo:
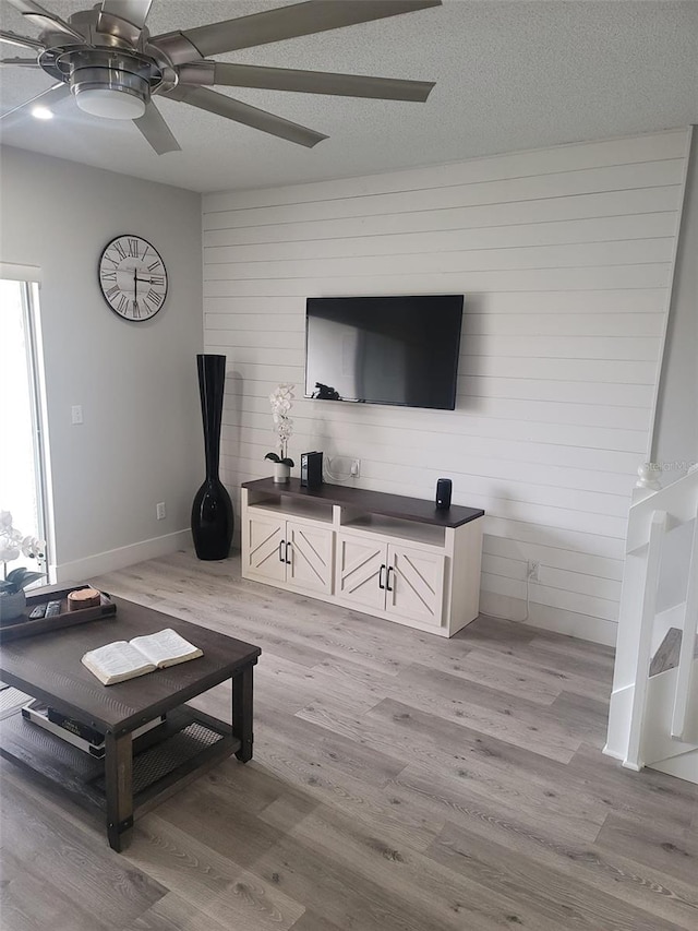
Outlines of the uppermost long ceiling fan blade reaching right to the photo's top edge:
[[313,35],[326,29],[338,29],[441,5],[442,0],[308,0],[305,3],[280,7],[251,16],[167,33],[156,36],[153,41],[167,49],[174,64],[181,64],[198,57],[207,58],[224,51]]

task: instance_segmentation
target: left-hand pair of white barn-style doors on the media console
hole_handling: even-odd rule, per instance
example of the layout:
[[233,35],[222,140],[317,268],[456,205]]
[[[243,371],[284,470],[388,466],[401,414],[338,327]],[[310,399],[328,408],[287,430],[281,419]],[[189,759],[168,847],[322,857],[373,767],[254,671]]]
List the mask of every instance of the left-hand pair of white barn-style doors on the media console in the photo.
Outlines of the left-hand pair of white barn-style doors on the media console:
[[243,575],[300,592],[332,593],[333,530],[248,512]]

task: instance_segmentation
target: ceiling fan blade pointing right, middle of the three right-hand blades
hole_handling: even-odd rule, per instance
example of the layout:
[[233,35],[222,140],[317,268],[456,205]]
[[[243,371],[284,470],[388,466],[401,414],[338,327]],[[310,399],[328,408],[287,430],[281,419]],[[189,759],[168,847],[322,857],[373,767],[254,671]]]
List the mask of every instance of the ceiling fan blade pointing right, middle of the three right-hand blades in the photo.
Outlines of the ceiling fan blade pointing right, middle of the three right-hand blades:
[[[429,97],[434,87],[432,81],[401,81],[394,77],[369,77],[363,74],[333,74],[324,71],[296,71],[290,68],[226,64],[219,61],[213,64],[213,83],[230,87],[264,87],[268,91],[296,91],[305,94],[335,94],[338,97],[376,97],[382,100],[420,103]],[[191,71],[195,72],[196,68],[196,62],[182,65],[181,80],[186,83],[186,75]]]

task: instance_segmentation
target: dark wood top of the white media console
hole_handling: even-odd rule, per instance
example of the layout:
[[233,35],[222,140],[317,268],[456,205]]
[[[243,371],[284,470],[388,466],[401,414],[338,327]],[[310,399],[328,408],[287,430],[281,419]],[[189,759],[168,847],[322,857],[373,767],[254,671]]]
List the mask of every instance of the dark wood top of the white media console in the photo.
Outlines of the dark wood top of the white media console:
[[435,524],[440,527],[460,527],[484,514],[484,511],[461,508],[458,504],[452,504],[448,510],[441,511],[436,509],[433,501],[425,501],[422,498],[385,494],[382,491],[365,491],[341,485],[325,484],[317,488],[301,488],[299,478],[292,478],[285,485],[277,485],[273,478],[258,478],[255,481],[243,481],[242,487],[249,491],[324,501],[326,504],[340,504],[364,511],[366,514],[418,521],[420,524]]

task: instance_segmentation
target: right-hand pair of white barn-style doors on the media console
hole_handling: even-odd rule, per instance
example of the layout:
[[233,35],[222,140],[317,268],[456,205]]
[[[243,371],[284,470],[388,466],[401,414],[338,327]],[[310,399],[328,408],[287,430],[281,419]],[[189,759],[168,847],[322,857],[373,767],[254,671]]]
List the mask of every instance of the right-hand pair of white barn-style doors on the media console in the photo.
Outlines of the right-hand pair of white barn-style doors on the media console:
[[338,535],[336,592],[346,605],[440,626],[444,606],[443,553],[369,535]]

